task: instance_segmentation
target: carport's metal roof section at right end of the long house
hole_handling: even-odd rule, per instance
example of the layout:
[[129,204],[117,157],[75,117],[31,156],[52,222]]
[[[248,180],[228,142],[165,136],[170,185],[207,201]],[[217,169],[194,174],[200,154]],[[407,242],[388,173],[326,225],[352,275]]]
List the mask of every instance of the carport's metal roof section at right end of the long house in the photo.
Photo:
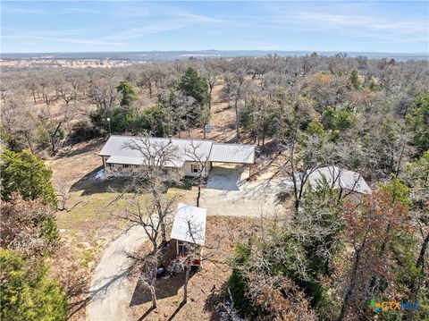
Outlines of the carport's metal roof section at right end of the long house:
[[219,163],[254,164],[255,146],[214,143],[208,160]]

